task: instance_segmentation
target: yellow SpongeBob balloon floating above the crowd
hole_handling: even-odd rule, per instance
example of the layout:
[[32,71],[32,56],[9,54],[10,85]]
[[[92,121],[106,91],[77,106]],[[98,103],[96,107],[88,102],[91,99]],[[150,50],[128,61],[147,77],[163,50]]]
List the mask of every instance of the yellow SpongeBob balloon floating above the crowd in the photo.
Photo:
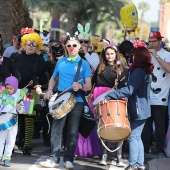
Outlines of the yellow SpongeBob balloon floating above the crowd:
[[126,5],[120,10],[122,25],[129,34],[135,32],[138,26],[138,12],[134,4]]

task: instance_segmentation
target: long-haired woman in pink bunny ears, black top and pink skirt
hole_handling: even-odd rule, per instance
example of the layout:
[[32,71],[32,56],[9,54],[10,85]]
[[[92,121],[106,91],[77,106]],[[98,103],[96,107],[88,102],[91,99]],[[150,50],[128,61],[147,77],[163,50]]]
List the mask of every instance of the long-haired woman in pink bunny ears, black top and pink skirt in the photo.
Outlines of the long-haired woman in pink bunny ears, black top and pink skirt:
[[[128,70],[120,63],[119,61],[119,52],[116,47],[114,40],[111,42],[103,40],[104,50],[101,53],[101,62],[98,65],[94,76],[92,78],[93,96],[89,102],[89,106],[95,113],[96,111],[92,108],[92,103],[95,99],[106,91],[112,89],[113,87],[117,88],[115,82],[119,82],[119,86],[124,86],[127,80]],[[105,142],[107,145],[108,142]],[[119,143],[116,143],[116,146]],[[107,151],[102,148],[102,160],[99,162],[100,165],[107,165]],[[123,162],[120,161],[122,158],[122,147],[116,152],[116,165],[124,166]]]

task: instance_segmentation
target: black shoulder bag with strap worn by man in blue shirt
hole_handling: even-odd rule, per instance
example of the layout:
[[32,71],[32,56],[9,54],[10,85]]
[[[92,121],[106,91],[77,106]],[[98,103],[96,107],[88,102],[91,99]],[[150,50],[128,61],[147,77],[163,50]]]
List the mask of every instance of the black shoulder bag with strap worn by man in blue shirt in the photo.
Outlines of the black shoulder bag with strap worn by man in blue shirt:
[[[78,64],[75,82],[78,81],[81,64],[82,64],[82,59],[79,61],[79,64]],[[89,105],[85,99],[85,92],[82,90],[79,90],[77,93],[80,94],[80,96],[84,100],[84,111],[81,114],[79,133],[84,138],[87,138],[90,135],[90,133],[92,132],[92,130],[94,129],[94,127],[96,125],[96,120],[94,118],[94,114],[91,112]]]

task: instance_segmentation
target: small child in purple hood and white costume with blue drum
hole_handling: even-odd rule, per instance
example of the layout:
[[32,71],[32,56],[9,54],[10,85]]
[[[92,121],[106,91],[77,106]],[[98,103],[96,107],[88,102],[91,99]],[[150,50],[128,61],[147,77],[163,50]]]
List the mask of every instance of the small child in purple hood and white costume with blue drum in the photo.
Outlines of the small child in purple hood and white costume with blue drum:
[[14,76],[7,77],[5,89],[0,94],[0,159],[4,166],[10,166],[12,150],[18,131],[17,114],[24,113],[22,102],[25,93],[18,89],[18,80]]

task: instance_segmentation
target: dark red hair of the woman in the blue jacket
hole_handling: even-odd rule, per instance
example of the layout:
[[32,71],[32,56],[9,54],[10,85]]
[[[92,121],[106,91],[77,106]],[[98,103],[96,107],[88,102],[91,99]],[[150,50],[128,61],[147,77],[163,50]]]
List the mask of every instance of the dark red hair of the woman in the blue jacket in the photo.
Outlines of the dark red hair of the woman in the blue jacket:
[[154,65],[151,63],[151,54],[146,47],[137,47],[133,55],[133,68],[142,68],[146,73],[152,73]]

